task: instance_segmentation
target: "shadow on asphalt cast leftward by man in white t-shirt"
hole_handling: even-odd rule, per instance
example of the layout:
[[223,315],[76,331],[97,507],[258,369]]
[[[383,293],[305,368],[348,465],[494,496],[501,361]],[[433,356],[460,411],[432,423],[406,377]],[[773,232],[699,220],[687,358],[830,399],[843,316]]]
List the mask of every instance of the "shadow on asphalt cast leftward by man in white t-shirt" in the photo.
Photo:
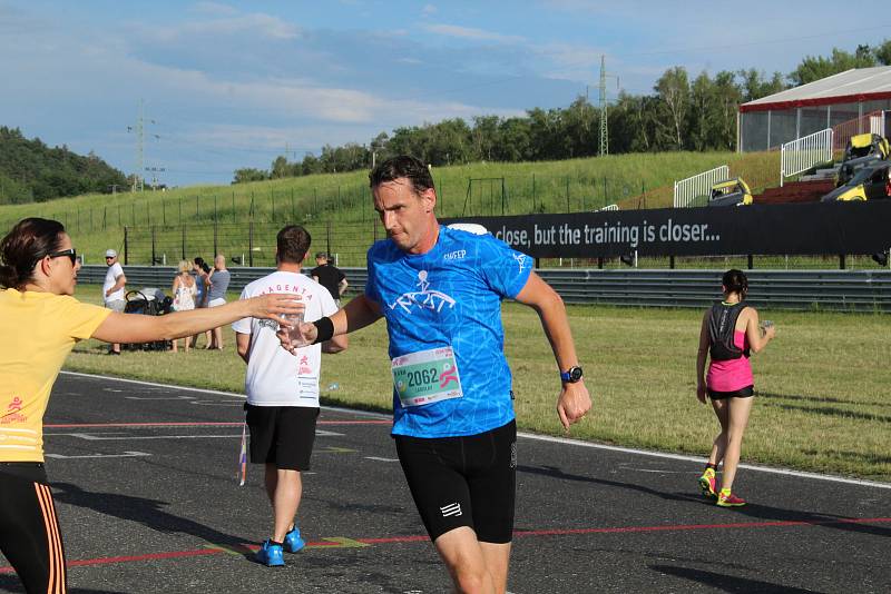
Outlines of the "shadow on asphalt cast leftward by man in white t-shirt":
[[245,539],[222,533],[194,519],[180,517],[164,511],[169,505],[160,499],[133,497],[117,493],[99,493],[80,488],[71,483],[52,483],[56,502],[86,507],[100,514],[138,522],[153,531],[163,533],[189,534],[208,545],[218,545],[254,561],[254,552],[244,545]]

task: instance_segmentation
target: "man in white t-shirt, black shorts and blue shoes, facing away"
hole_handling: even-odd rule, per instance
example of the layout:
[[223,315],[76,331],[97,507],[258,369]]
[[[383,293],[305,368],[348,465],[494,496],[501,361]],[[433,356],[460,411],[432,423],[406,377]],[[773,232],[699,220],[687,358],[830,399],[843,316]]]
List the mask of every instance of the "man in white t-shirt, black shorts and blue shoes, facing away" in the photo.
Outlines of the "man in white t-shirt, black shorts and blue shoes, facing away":
[[[276,236],[276,271],[254,280],[242,299],[266,293],[293,293],[304,306],[304,319],[314,321],[337,310],[331,294],[301,273],[310,249],[310,234],[290,225]],[[319,417],[319,373],[322,346],[282,348],[275,333],[278,325],[245,318],[232,325],[238,355],[247,364],[247,426],[251,430],[251,462],[265,464],[266,493],[272,503],[274,528],[257,552],[268,566],[284,565],[283,551],[296,553],[304,546],[294,516],[303,492],[301,472],[310,468]],[[340,338],[340,337],[339,337]],[[333,339],[326,353],[346,348]]]

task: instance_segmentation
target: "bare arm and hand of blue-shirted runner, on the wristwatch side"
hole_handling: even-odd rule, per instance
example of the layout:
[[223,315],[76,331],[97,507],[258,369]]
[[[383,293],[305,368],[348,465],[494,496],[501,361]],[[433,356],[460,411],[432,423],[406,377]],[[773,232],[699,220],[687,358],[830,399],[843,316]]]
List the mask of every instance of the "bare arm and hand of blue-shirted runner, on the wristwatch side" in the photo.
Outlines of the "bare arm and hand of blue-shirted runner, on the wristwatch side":
[[[566,306],[557,291],[532,273],[526,286],[517,295],[517,301],[528,305],[538,313],[541,327],[554,350],[558,370],[564,372],[578,365],[576,345],[569,329],[569,319],[566,317]],[[557,400],[557,415],[565,429],[569,430],[569,426],[580,420],[590,407],[591,398],[584,379],[575,384],[564,382]]]

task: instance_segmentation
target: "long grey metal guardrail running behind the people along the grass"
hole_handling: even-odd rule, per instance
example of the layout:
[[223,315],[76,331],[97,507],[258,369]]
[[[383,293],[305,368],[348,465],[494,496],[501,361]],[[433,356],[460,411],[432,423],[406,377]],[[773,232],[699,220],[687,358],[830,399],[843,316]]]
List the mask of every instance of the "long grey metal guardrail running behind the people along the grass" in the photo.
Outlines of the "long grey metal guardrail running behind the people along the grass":
[[[229,268],[229,290],[242,290],[273,268]],[[128,288],[169,293],[173,267],[125,266]],[[343,268],[350,296],[364,290],[364,268]],[[85,266],[79,280],[101,284],[105,266]],[[568,304],[634,307],[705,307],[721,298],[723,270],[539,269]],[[891,313],[891,270],[748,270],[747,300],[768,309],[869,310]]]

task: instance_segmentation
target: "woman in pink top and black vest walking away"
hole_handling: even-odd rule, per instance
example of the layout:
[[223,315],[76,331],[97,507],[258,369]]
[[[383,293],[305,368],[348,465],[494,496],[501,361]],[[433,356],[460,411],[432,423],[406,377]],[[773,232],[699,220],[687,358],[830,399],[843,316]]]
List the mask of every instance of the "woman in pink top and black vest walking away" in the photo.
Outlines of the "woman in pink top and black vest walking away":
[[[776,334],[776,328],[773,324],[765,324],[762,329],[757,310],[743,303],[748,279],[742,270],[727,270],[722,279],[722,290],[724,300],[713,305],[703,317],[696,356],[696,397],[705,404],[708,396],[721,423],[721,433],[712,444],[699,487],[706,497],[716,497],[718,506],[740,507],[745,505],[745,501],[732,488],[754,394],[748,355],[763,349]],[[711,359],[707,374],[706,356]],[[722,459],[724,476],[718,492],[715,472]]]

